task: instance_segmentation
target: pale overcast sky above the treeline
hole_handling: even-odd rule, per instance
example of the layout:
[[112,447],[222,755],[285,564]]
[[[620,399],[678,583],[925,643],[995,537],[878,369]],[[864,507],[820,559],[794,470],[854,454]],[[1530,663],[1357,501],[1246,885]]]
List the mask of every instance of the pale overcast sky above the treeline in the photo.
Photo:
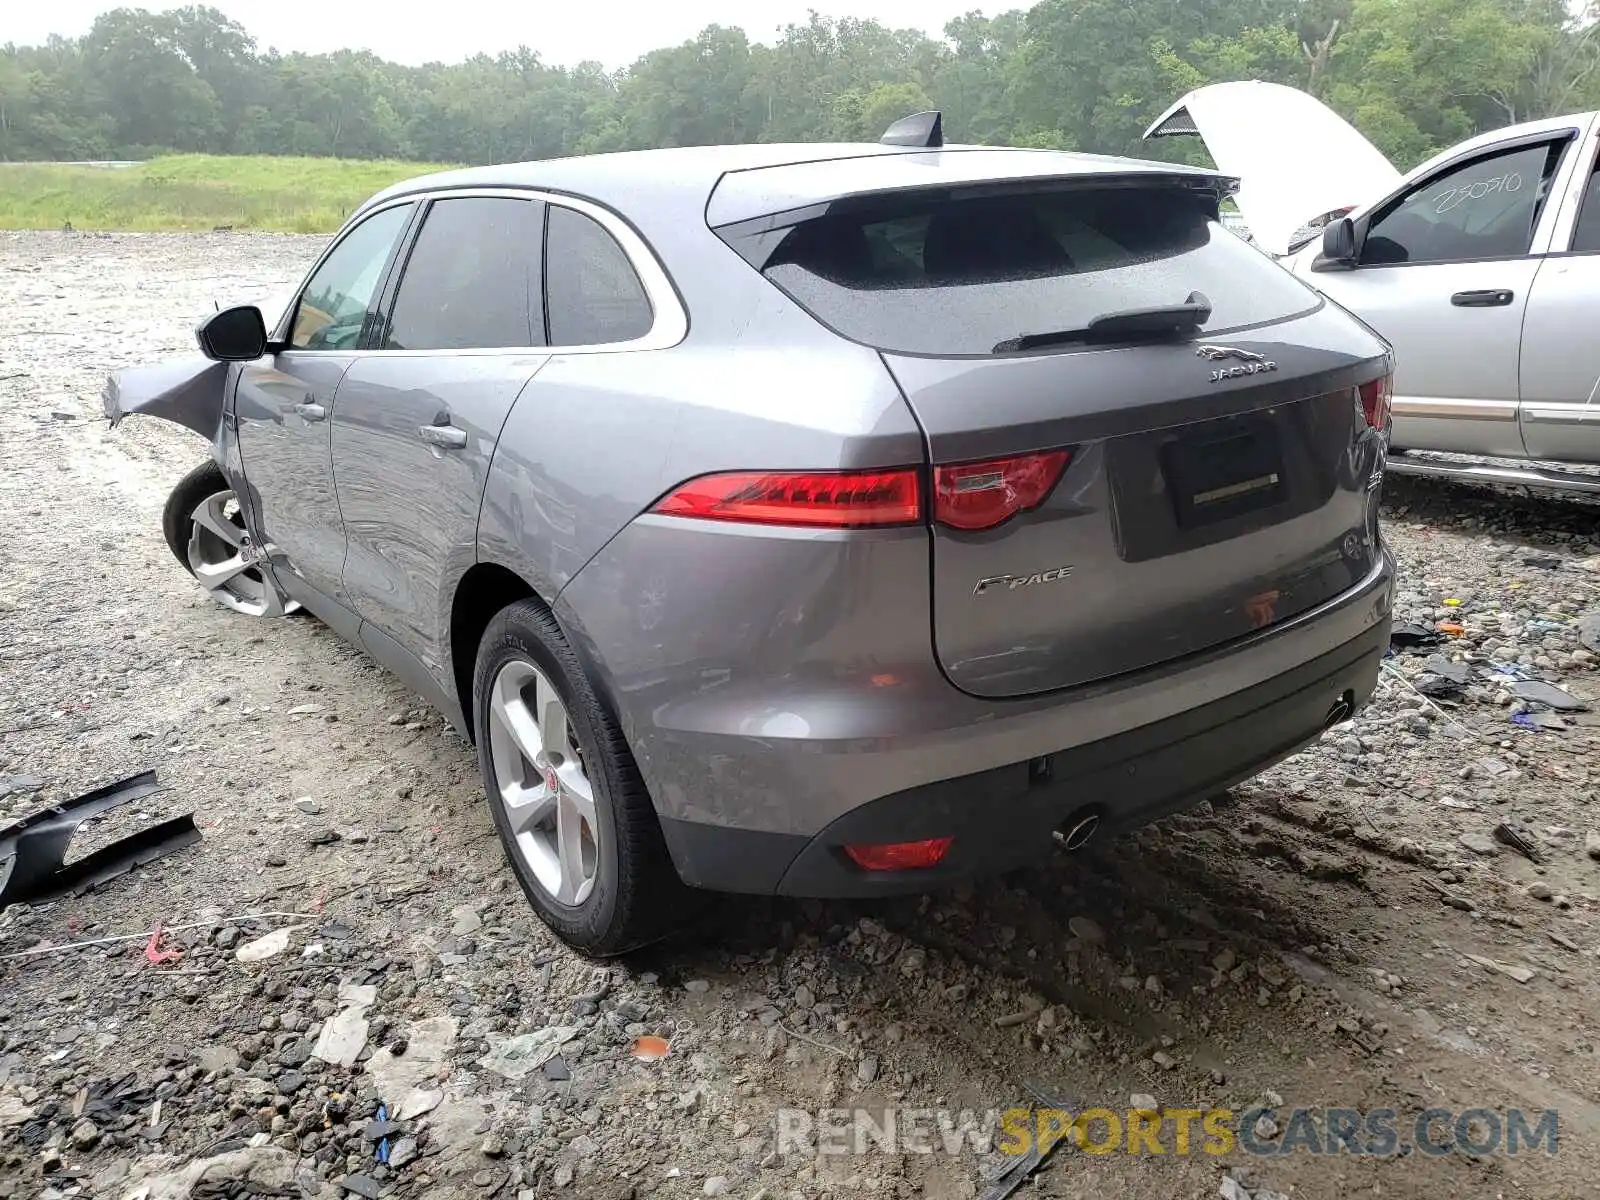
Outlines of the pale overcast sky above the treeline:
[[[891,27],[938,34],[952,16],[1018,3],[982,0],[206,0],[248,29],[262,50],[365,48],[397,62],[454,62],[478,51],[528,45],[546,62],[584,59],[622,67],[648,50],[694,37],[709,24],[742,26],[755,42],[803,22],[806,8],[827,16],[875,18]],[[128,6],[173,8],[162,0]],[[88,30],[110,0],[0,0],[0,45],[43,42]]]

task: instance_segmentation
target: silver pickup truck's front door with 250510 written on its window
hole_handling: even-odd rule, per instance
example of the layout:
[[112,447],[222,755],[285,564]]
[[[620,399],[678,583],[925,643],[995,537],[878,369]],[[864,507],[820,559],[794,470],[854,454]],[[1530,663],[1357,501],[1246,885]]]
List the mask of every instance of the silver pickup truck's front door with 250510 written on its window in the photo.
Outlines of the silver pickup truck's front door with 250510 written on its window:
[[1395,347],[1397,450],[1522,458],[1517,363],[1565,138],[1478,152],[1379,208],[1350,270],[1312,283]]

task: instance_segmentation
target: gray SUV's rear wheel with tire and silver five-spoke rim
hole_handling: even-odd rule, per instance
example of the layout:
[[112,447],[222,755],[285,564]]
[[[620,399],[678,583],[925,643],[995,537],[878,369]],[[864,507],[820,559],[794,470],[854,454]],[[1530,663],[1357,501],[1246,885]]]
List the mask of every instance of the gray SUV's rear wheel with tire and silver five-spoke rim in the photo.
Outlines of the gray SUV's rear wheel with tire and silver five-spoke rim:
[[494,826],[544,923],[600,957],[667,933],[686,890],[650,795],[622,731],[538,602],[490,622],[472,706]]

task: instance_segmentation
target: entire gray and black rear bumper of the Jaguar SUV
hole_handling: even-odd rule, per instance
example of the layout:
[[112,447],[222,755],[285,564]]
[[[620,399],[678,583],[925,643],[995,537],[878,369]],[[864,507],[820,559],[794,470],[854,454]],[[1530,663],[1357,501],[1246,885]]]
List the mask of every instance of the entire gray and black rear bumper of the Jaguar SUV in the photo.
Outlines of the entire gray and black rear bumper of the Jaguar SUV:
[[[923,528],[646,515],[557,597],[686,883],[923,888],[1048,854],[1054,821],[1110,794],[1118,822],[1203,797],[1314,738],[1342,693],[1366,698],[1394,563],[1382,554],[1358,586],[1227,645],[1005,701],[939,670],[928,571]],[[830,859],[846,834],[918,837],[923,810],[963,829],[938,874],[864,880]]]

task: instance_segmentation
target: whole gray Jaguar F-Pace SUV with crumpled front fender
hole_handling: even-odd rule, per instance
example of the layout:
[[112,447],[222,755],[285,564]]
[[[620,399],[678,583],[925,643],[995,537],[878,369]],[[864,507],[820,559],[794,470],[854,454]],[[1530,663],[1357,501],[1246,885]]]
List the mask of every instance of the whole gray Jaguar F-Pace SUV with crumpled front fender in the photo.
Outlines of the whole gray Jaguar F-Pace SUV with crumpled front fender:
[[166,539],[477,744],[539,915],[923,890],[1192,805],[1370,696],[1389,347],[1214,173],[882,142],[373,197],[270,331],[123,371]]

